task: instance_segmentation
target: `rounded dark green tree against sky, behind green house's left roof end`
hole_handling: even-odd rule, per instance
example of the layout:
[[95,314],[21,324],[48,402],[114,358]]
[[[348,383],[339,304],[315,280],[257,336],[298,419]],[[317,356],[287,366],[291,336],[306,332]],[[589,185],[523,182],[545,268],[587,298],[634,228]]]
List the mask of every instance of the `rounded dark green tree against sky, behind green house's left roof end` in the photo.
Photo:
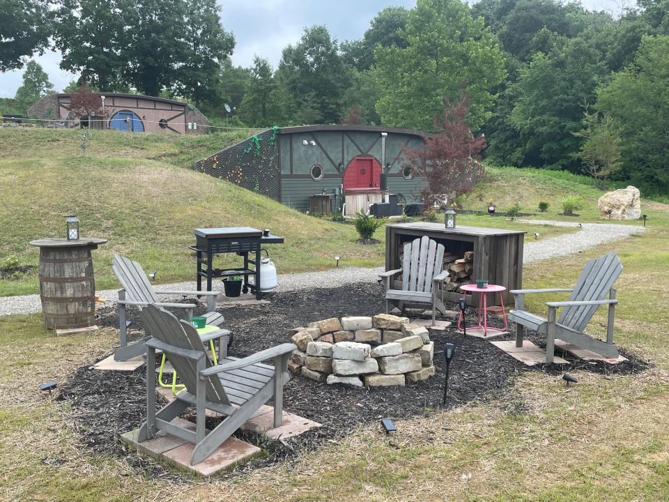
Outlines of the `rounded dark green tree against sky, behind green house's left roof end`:
[[296,119],[339,122],[341,96],[350,77],[337,51],[337,40],[325,26],[305,29],[299,43],[284,49],[276,76],[291,100],[291,109],[298,110]]

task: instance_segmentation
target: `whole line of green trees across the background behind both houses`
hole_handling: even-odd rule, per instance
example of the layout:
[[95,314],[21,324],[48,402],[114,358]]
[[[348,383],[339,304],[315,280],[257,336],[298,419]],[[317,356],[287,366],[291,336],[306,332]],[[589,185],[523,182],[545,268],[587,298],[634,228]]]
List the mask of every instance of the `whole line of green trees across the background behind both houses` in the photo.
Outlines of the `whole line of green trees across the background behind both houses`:
[[305,28],[276,68],[261,54],[233,66],[234,36],[215,0],[40,1],[13,0],[0,20],[16,33],[0,44],[0,71],[52,43],[78,83],[185,98],[214,120],[229,103],[229,120],[252,127],[434,132],[445,102],[465,93],[490,162],[669,193],[669,0],[619,13],[556,0],[417,0],[381,10],[360,40]]

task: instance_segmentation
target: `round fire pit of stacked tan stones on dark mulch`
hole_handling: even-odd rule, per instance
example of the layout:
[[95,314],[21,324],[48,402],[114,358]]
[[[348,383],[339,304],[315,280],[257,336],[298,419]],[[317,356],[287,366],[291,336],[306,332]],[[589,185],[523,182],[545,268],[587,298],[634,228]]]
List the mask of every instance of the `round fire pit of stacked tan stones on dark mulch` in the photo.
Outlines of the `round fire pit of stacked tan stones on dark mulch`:
[[298,347],[291,372],[330,385],[405,386],[435,374],[429,331],[407,317],[332,317],[295,328],[289,337]]

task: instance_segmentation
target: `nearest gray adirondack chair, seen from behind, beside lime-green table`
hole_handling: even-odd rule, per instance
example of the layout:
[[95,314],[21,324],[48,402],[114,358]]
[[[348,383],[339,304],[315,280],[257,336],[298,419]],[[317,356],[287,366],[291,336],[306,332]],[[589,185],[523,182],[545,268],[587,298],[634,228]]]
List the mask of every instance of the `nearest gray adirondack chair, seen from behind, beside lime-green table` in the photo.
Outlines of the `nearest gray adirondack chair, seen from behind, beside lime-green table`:
[[[218,448],[270,399],[274,399],[274,427],[282,423],[283,388],[289,381],[288,360],[295,345],[284,343],[243,359],[224,357],[213,365],[197,331],[187,321],[156,305],[141,310],[144,326],[151,330],[146,342],[146,360],[155,361],[161,350],[178,372],[186,388],[160,411],[155,411],[155,367],[146,365],[146,422],[139,428],[138,441],[145,441],[162,430],[195,443],[190,464],[199,464]],[[222,343],[223,347],[226,344]],[[274,365],[261,361],[272,359]],[[171,420],[189,406],[195,406],[195,431],[179,427]],[[211,432],[206,431],[206,410],[225,418]]]

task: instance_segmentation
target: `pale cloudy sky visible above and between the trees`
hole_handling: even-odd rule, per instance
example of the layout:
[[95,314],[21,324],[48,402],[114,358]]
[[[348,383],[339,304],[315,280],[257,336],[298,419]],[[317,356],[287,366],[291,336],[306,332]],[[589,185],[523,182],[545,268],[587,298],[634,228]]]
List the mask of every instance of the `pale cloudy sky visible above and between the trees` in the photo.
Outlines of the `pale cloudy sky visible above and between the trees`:
[[[582,0],[581,3],[586,8],[617,12],[620,1]],[[259,54],[276,66],[283,48],[299,40],[305,26],[325,24],[337,40],[354,40],[362,37],[379,10],[391,5],[410,8],[415,6],[415,0],[222,0],[220,4],[223,26],[235,34],[233,63],[250,66],[253,55]],[[59,68],[58,53],[47,52],[37,61],[56,91],[76,78]],[[14,96],[22,74],[23,70],[0,74],[0,97]]]

